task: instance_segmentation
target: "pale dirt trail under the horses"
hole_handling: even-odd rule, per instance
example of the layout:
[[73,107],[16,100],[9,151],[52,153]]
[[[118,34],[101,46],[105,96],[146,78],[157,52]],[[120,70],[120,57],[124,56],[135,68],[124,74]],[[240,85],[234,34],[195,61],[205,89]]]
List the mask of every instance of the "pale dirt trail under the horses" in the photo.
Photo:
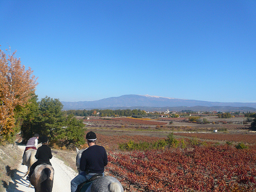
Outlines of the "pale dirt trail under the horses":
[[[21,150],[21,153],[24,152],[25,146],[18,146]],[[54,178],[53,178],[53,190],[52,192],[70,192],[70,181],[77,175],[77,173],[65,165],[63,161],[54,157],[50,159],[52,166],[54,168]],[[29,182],[26,178],[22,178],[27,172],[27,166],[22,165],[22,160],[20,159],[20,165],[14,177],[12,178],[12,183],[9,184],[9,187],[6,189],[7,192],[34,192],[34,187],[29,187]]]

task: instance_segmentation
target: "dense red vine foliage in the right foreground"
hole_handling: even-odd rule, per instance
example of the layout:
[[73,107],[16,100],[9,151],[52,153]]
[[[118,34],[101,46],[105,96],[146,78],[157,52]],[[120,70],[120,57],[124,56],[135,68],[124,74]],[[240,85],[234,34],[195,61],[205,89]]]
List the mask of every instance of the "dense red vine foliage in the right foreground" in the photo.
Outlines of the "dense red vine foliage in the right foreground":
[[256,151],[230,146],[109,152],[106,171],[145,191],[255,191]]

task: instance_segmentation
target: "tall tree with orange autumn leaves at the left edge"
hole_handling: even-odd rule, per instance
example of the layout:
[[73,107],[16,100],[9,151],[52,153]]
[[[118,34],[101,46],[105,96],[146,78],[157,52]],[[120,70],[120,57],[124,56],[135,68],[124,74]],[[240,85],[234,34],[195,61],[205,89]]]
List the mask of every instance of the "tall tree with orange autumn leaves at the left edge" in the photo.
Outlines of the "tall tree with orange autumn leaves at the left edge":
[[0,142],[15,134],[15,109],[28,103],[37,86],[33,71],[26,70],[15,53],[7,56],[0,49]]

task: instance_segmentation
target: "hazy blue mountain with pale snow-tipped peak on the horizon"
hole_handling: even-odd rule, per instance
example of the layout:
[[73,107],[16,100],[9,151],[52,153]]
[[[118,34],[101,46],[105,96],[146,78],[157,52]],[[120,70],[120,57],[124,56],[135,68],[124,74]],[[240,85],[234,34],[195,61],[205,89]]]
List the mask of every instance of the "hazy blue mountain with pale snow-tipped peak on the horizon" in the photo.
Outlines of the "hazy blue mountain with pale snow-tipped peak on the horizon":
[[[100,99],[97,101],[79,101],[79,102],[64,102],[62,101],[63,109],[113,109],[113,108],[135,108],[151,107],[151,108],[163,108],[163,107],[182,107],[191,108],[195,106],[201,106],[200,109],[204,109],[203,106],[213,107],[215,110],[219,109],[223,111],[224,106],[230,107],[248,107],[246,111],[256,111],[256,103],[239,103],[239,102],[210,102],[200,100],[189,100],[189,99],[176,99],[169,97],[151,96],[151,95],[122,95],[119,97],[110,97]],[[250,109],[249,109],[250,108]],[[231,110],[230,108],[228,108]],[[199,108],[197,107],[197,110]],[[236,109],[242,111],[242,109]]]

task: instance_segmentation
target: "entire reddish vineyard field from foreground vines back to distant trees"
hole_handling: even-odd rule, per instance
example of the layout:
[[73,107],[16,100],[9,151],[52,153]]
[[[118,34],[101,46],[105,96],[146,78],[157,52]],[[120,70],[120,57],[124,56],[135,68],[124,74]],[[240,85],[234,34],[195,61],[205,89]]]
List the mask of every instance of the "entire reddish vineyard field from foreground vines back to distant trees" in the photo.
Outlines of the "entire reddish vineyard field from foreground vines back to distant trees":
[[[226,119],[228,123],[210,118],[216,122],[92,117],[83,121],[87,131],[97,134],[97,144],[106,148],[105,175],[118,178],[125,191],[256,191],[256,133],[248,123],[240,123],[241,118]],[[164,140],[172,132],[176,146],[143,151],[119,148],[122,143]],[[238,149],[239,143],[245,148]]]

